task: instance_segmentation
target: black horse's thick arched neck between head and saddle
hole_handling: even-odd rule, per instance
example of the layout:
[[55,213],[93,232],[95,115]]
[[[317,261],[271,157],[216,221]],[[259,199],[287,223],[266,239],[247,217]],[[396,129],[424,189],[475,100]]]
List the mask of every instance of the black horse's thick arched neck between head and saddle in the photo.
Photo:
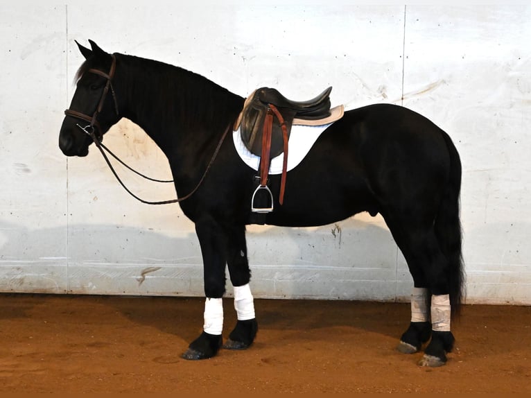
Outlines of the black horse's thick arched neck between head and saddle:
[[140,126],[166,156],[184,147],[186,155],[193,155],[182,141],[215,141],[243,106],[243,98],[195,73],[140,58],[125,60],[123,116]]

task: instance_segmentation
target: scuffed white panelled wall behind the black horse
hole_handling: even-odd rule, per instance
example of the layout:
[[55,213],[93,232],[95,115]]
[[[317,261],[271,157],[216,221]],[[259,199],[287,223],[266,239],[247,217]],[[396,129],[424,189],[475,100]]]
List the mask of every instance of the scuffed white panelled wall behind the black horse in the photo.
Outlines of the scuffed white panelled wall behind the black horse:
[[[0,291],[202,295],[198,241],[179,207],[142,205],[94,150],[67,159],[58,148],[83,60],[73,40],[92,39],[242,96],[269,85],[306,99],[332,85],[333,105],[403,103],[428,116],[462,157],[467,301],[531,304],[530,6],[124,3],[0,6]],[[164,155],[132,123],[119,123],[105,142],[169,177]],[[171,187],[125,180],[151,200],[174,196]],[[251,226],[247,236],[256,297],[410,293],[407,266],[379,216]]]

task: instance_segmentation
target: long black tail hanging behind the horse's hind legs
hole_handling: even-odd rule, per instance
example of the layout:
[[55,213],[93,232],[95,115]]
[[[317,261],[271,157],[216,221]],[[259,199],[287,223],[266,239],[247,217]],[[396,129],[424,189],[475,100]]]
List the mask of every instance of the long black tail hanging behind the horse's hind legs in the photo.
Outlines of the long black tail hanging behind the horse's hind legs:
[[464,300],[464,265],[460,220],[461,160],[452,140],[443,134],[450,155],[450,178],[435,220],[435,234],[449,261],[448,279],[452,315],[458,316]]

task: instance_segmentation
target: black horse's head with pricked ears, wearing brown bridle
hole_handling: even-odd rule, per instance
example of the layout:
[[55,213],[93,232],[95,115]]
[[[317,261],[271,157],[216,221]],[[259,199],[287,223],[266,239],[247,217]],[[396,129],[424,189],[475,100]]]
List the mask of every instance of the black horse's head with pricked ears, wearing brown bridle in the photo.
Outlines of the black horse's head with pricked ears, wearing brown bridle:
[[67,156],[86,156],[89,145],[101,141],[121,117],[112,86],[116,58],[89,42],[92,49],[76,42],[85,62],[76,73],[76,92],[59,133],[59,148]]

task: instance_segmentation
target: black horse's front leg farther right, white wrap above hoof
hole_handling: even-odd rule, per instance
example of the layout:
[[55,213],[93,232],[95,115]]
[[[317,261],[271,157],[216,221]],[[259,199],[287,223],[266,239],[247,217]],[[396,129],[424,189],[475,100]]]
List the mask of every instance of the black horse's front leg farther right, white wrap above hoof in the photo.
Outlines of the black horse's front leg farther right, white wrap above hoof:
[[254,300],[249,286],[251,272],[247,260],[245,226],[238,225],[232,228],[228,236],[227,266],[234,286],[234,309],[236,309],[238,320],[223,348],[247,349],[256,337],[258,323],[254,314]]

